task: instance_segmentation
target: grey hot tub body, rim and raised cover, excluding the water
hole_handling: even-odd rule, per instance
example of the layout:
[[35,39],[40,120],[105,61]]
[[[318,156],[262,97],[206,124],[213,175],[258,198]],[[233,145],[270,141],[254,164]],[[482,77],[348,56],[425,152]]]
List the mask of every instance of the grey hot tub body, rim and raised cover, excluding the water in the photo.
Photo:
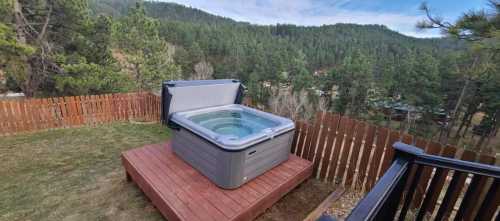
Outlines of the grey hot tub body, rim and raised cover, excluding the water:
[[[295,128],[290,119],[239,105],[241,92],[242,85],[235,80],[168,81],[162,92],[162,119],[173,128],[174,153],[226,189],[237,188],[286,161]],[[248,112],[276,126],[231,139],[189,120],[218,110]]]

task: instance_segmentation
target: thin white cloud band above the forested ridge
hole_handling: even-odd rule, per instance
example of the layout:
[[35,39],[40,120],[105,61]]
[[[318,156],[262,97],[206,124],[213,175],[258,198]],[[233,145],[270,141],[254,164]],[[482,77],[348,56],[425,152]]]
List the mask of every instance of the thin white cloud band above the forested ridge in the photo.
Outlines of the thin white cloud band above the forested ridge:
[[296,24],[320,26],[336,23],[380,24],[414,37],[439,37],[435,31],[418,31],[415,24],[424,19],[413,14],[344,9],[349,0],[173,0],[212,14],[253,24]]

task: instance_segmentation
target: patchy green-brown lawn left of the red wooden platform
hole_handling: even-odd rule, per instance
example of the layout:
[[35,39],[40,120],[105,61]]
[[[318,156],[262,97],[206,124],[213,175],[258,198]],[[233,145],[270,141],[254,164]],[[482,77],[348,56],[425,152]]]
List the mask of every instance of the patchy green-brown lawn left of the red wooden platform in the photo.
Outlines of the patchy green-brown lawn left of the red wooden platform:
[[126,123],[0,137],[0,220],[162,220],[120,153],[168,137]]

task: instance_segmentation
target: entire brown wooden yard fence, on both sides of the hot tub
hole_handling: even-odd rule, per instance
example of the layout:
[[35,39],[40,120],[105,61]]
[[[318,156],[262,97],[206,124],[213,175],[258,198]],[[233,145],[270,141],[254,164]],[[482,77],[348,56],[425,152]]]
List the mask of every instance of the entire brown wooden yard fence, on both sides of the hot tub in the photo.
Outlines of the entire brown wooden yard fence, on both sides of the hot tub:
[[[148,92],[138,92],[0,101],[0,135],[133,119],[159,121],[160,97]],[[392,144],[396,141],[413,144],[432,155],[485,164],[495,164],[496,161],[495,157],[490,155],[477,154],[449,145],[443,146],[409,134],[400,134],[398,131],[325,112],[316,113],[313,122],[296,121],[292,153],[314,162],[314,176],[320,180],[370,191],[391,165],[394,156]],[[441,190],[445,185],[449,185],[453,176],[454,174],[448,171],[441,171],[436,175],[432,168],[423,167],[416,185],[413,205],[420,205],[430,185],[433,192],[428,193],[432,196],[429,202],[426,202],[425,208],[432,212],[439,201]],[[448,190],[452,191],[451,198],[447,199],[452,205],[464,194],[462,187],[469,185],[470,177],[460,177],[461,179],[454,181],[454,188]],[[478,196],[481,196],[487,188],[479,188],[476,191]],[[500,196],[497,198],[497,201],[500,200]],[[449,211],[452,209],[453,207],[448,208]]]

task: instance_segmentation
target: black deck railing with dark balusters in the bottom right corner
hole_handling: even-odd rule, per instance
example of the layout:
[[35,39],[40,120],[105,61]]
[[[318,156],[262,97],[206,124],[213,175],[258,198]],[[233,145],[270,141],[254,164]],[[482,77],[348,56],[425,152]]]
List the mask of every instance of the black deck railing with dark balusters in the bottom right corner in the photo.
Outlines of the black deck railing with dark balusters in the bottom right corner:
[[[416,217],[415,220],[449,220],[452,217],[454,220],[494,220],[494,216],[499,216],[500,167],[426,154],[401,142],[395,143],[394,149],[391,166],[347,220],[405,220],[409,213]],[[423,202],[416,202],[417,186],[426,169],[433,170],[434,175],[425,188]],[[443,192],[442,203],[432,214],[442,184],[451,172],[453,175]],[[460,202],[457,204],[457,201]],[[412,204],[416,205],[411,207]],[[418,209],[411,211],[412,208]]]

